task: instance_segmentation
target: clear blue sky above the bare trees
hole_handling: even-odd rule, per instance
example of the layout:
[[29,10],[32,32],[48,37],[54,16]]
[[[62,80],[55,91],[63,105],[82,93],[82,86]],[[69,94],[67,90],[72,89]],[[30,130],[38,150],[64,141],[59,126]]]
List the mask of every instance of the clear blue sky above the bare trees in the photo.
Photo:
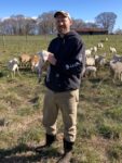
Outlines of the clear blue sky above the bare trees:
[[44,12],[58,10],[84,22],[94,22],[103,12],[113,12],[117,14],[114,29],[122,29],[122,0],[2,0],[0,18],[17,14],[38,17]]

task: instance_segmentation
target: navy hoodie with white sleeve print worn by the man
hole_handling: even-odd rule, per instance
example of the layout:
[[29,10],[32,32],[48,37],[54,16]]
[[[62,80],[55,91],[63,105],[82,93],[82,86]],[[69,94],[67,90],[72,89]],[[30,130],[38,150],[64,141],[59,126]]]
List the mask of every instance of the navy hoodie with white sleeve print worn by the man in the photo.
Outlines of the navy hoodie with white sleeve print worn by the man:
[[45,86],[55,91],[74,90],[80,87],[82,71],[85,66],[84,43],[76,32],[54,38],[48,49],[54,53],[56,65],[50,65]]

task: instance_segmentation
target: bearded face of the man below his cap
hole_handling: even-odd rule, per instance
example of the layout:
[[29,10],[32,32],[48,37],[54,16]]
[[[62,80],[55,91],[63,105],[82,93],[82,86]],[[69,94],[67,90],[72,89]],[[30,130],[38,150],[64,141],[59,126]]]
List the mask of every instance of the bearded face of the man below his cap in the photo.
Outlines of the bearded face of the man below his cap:
[[59,34],[67,34],[70,30],[72,22],[69,17],[65,17],[64,15],[57,15],[55,20],[56,27]]

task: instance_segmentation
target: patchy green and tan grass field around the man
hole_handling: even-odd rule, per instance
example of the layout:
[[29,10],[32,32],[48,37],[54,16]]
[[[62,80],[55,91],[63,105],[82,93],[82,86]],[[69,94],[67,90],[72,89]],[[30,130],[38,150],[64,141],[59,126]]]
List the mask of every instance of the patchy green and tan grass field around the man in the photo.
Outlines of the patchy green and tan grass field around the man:
[[[116,47],[122,54],[122,36],[107,36],[104,49]],[[62,116],[58,116],[58,140],[48,153],[33,149],[44,140],[42,104],[45,87],[37,74],[21,71],[8,77],[6,62],[23,52],[35,54],[46,49],[53,36],[0,36],[0,163],[55,163],[63,148]],[[96,46],[106,36],[83,36],[86,48]],[[78,137],[72,163],[122,163],[122,83],[113,84],[109,68],[98,71],[96,78],[83,78],[78,108]]]

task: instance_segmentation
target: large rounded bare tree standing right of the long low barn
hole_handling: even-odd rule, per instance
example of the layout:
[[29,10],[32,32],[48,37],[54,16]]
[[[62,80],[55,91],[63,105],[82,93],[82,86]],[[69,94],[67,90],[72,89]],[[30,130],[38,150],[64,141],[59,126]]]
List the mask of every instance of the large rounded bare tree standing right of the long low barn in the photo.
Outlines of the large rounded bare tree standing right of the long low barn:
[[112,33],[116,18],[117,15],[113,12],[103,12],[95,17],[95,21],[99,27],[107,29],[109,33]]

